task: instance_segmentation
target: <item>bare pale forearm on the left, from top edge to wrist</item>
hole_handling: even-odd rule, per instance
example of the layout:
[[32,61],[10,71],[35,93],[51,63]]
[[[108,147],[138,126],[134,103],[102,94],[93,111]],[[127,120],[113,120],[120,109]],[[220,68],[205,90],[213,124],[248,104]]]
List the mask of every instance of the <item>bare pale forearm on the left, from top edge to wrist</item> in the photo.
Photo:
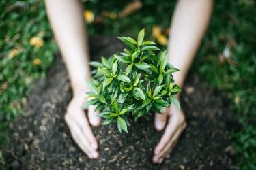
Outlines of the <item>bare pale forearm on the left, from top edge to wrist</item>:
[[79,0],[45,0],[51,27],[68,69],[72,90],[86,86],[90,78],[87,34]]

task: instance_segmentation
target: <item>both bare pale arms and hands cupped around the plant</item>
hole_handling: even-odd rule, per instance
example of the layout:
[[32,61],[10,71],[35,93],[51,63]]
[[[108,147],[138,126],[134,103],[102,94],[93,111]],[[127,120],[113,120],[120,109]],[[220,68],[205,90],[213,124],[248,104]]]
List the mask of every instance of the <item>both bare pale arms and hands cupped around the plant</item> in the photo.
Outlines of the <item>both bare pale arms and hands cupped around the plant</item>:
[[[46,11],[55,33],[55,38],[66,63],[73,97],[65,120],[71,135],[79,148],[89,158],[98,158],[98,142],[91,126],[99,126],[100,118],[94,106],[83,110],[85,92],[89,87],[85,79],[90,79],[89,51],[83,19],[83,9],[78,0],[45,0]],[[169,63],[180,69],[175,73],[175,83],[182,86],[212,12],[213,0],[180,0],[171,22],[169,39]],[[177,96],[179,98],[179,96]],[[167,122],[168,120],[168,122]],[[91,126],[90,126],[91,125]],[[174,105],[162,114],[155,114],[154,126],[158,131],[165,129],[160,142],[154,148],[153,163],[162,163],[175,147],[182,131],[186,128],[184,112]]]

